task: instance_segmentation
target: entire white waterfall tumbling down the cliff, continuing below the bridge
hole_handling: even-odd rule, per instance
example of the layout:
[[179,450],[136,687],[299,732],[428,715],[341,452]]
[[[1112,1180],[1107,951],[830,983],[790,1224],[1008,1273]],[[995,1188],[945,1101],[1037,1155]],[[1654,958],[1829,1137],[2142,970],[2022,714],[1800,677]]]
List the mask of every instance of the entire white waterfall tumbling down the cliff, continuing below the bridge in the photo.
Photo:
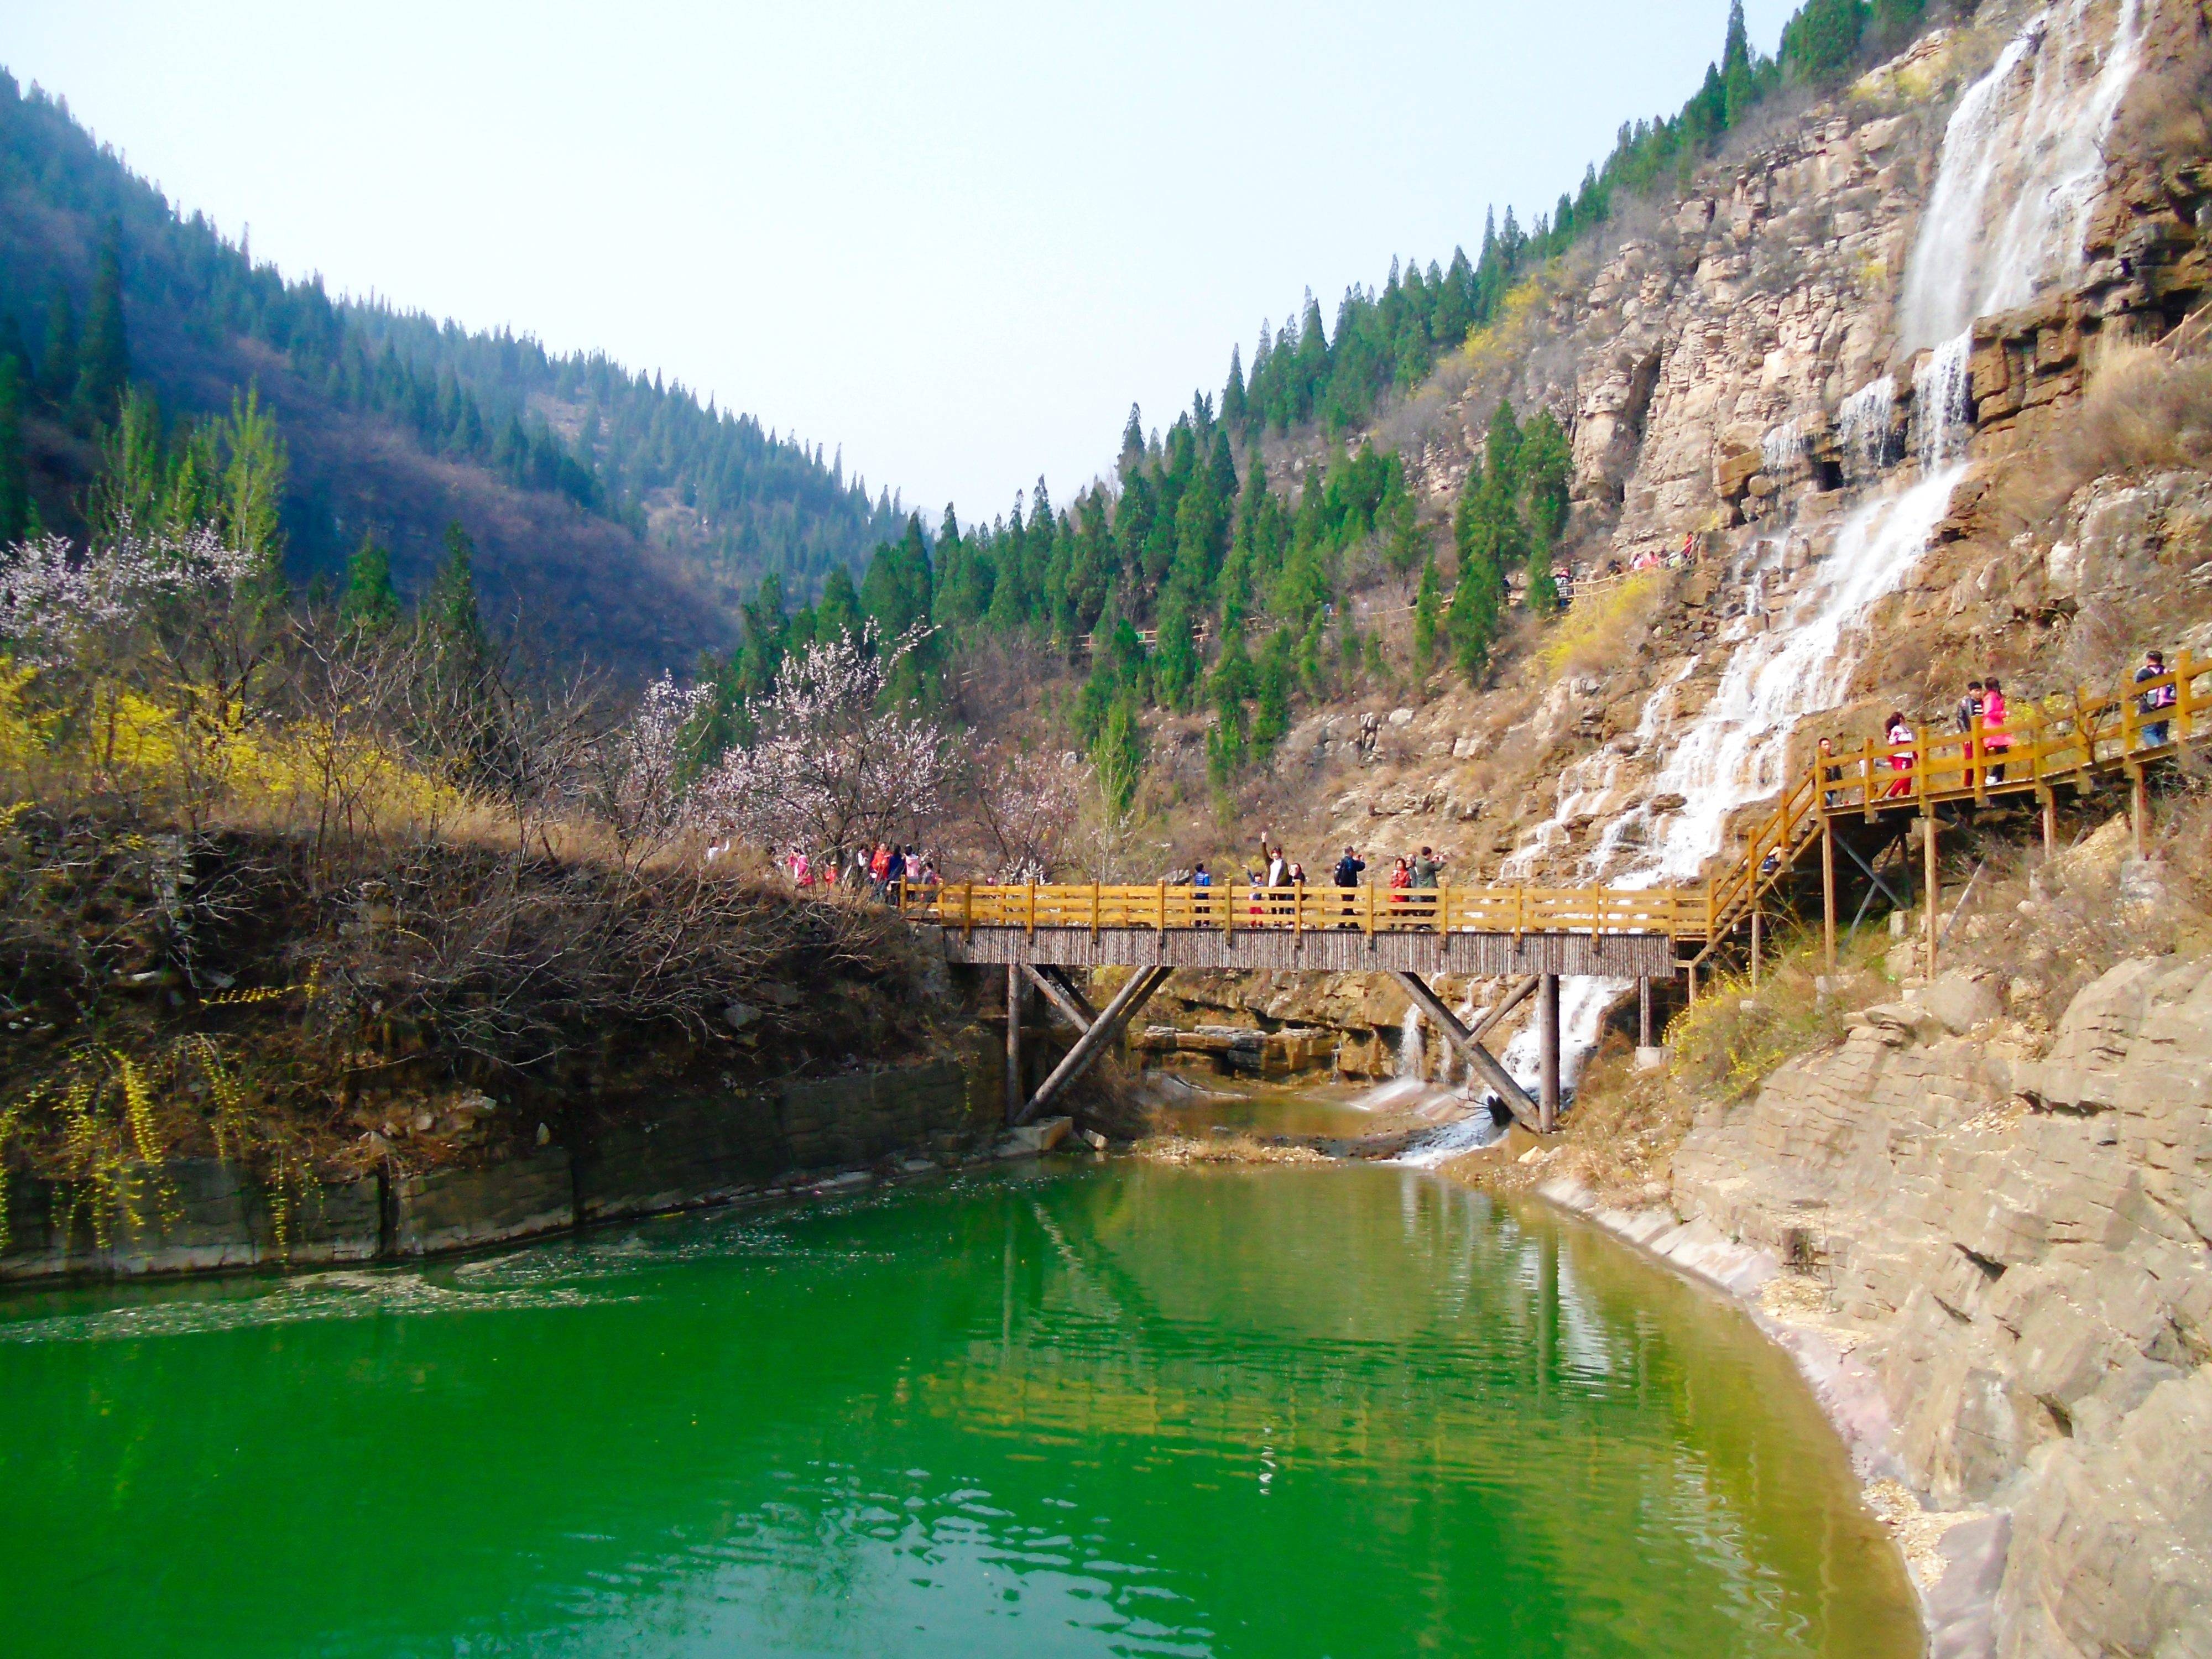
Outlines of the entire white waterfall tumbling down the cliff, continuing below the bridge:
[[[2097,13],[2112,27],[2097,42]],[[1867,611],[1893,593],[1927,551],[1929,535],[1964,476],[1973,321],[2024,305],[2081,263],[2086,217],[2104,179],[2104,139],[2141,55],[2141,0],[2059,0],[2037,13],[1997,64],[1960,97],[1944,131],[1936,188],[1905,274],[1900,336],[1907,349],[1936,347],[1913,376],[1916,482],[1856,507],[1834,531],[1825,560],[1787,599],[1787,615],[1763,624],[1765,580],[1787,546],[1787,531],[1754,542],[1732,568],[1745,617],[1717,644],[1730,650],[1708,703],[1677,723],[1690,657],[1646,699],[1637,748],[1650,752],[1679,730],[1641,801],[1621,801],[1621,759],[1599,752],[1559,779],[1559,810],[1504,863],[1504,878],[1526,878],[1577,816],[1613,812],[1597,847],[1582,860],[1584,880],[1615,887],[1694,883],[1723,852],[1730,818],[1783,781],[1790,734],[1807,717],[1836,708],[1849,688],[1849,648]],[[1869,482],[1889,462],[1896,385],[1863,387],[1840,411],[1851,482]],[[1776,427],[1761,445],[1763,467],[1792,462]],[[1801,442],[1801,440],[1798,440]],[[1858,471],[1865,469],[1865,471]],[[1657,812],[1655,801],[1681,796]],[[1630,989],[1617,980],[1566,980],[1559,995],[1562,1084],[1573,1086],[1597,1042],[1606,1011]],[[1537,1073],[1533,1026],[1500,1060],[1520,1082]],[[1489,1137],[1486,1117],[1455,1124],[1405,1155],[1442,1161]]]

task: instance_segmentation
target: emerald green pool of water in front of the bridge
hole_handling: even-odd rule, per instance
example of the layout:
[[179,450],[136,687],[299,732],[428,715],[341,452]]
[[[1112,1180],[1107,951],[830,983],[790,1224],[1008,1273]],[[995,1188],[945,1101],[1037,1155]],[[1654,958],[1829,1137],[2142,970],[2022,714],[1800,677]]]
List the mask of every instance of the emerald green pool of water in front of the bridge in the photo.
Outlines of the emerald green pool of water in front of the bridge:
[[0,1301],[33,1655],[1913,1655],[1732,1307],[1389,1168],[1110,1164]]

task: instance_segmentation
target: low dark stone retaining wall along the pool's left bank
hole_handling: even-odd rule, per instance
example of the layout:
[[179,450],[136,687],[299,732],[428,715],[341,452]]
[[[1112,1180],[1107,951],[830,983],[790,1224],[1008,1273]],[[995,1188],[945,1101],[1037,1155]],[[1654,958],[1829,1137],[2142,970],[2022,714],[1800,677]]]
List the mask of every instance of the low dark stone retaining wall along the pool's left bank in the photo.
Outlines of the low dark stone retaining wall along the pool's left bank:
[[18,1172],[7,1183],[0,1281],[422,1256],[726,1203],[900,1152],[947,1161],[1000,1117],[995,1068],[967,1057],[641,1104],[573,1148],[544,1146],[484,1168],[378,1170],[274,1201],[223,1159],[135,1170],[131,1197],[104,1214],[55,1181]]

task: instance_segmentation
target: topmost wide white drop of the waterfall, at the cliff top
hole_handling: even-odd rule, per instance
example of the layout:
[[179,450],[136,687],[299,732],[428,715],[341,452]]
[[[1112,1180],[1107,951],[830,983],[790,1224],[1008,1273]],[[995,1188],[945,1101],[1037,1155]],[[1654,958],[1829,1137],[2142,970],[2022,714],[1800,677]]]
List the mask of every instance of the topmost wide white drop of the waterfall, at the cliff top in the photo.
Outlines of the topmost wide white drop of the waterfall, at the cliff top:
[[1951,111],[1905,270],[1907,352],[2079,270],[2104,142],[2143,49],[2141,0],[2119,0],[2101,46],[2093,9],[2097,0],[2057,0],[2037,11]]

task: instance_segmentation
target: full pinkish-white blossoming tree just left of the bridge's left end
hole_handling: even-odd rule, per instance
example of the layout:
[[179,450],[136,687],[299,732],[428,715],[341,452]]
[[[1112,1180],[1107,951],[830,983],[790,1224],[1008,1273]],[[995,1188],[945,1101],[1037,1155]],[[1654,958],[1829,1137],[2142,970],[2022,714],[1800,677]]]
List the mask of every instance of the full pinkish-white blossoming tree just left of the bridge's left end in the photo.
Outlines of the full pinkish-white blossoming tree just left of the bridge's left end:
[[710,832],[770,847],[843,856],[902,838],[942,807],[945,728],[883,690],[920,633],[880,644],[869,624],[785,657],[776,688],[745,703],[754,739],[732,748],[692,790]]

